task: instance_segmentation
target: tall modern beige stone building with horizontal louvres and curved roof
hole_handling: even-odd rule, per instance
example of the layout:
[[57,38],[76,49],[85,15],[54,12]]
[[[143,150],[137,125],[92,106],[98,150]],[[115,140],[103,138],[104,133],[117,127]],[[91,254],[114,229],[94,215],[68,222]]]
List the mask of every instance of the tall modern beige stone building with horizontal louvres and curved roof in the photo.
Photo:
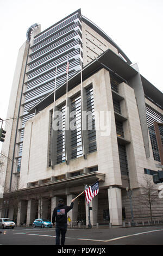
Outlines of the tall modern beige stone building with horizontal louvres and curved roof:
[[[162,102],[137,64],[80,9],[43,32],[30,26],[7,114],[0,216],[27,225],[51,218],[59,197],[69,204],[100,180],[93,225],[148,220],[143,187],[163,165]],[[84,194],[70,215],[87,223]],[[158,194],[153,218],[163,219]]]

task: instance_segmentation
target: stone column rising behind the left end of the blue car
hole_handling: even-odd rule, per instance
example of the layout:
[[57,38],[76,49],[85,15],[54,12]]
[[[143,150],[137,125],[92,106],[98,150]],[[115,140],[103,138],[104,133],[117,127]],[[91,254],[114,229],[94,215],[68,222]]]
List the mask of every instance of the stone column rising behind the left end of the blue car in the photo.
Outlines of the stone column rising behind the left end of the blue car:
[[36,200],[28,200],[27,205],[27,226],[33,223],[36,217],[38,203]]

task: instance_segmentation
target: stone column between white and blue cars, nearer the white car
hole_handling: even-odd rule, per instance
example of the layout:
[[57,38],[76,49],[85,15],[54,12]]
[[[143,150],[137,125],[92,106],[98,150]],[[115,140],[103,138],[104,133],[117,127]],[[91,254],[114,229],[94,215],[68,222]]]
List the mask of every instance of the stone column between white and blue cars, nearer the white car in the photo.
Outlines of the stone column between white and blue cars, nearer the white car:
[[17,211],[17,225],[21,223],[26,223],[27,219],[27,201],[21,200],[18,202],[18,211]]

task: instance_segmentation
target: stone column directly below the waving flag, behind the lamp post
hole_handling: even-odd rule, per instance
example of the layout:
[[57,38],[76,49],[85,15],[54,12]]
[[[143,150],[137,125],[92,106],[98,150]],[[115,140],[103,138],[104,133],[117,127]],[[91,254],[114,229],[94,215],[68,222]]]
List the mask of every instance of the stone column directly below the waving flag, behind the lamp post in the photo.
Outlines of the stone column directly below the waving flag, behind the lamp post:
[[[89,206],[86,204],[86,225],[89,224]],[[97,223],[97,217],[98,217],[98,194],[96,197],[94,197],[90,202],[90,207],[92,210],[90,210],[90,221],[91,225],[96,225]]]

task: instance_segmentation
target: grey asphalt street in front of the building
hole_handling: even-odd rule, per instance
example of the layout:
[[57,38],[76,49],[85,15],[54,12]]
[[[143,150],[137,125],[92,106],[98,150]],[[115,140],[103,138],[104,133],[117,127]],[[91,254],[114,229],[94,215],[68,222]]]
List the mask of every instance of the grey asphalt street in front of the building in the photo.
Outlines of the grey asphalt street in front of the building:
[[[68,228],[65,245],[163,245],[162,237],[162,225],[130,228]],[[0,245],[55,245],[55,228],[0,229]]]

